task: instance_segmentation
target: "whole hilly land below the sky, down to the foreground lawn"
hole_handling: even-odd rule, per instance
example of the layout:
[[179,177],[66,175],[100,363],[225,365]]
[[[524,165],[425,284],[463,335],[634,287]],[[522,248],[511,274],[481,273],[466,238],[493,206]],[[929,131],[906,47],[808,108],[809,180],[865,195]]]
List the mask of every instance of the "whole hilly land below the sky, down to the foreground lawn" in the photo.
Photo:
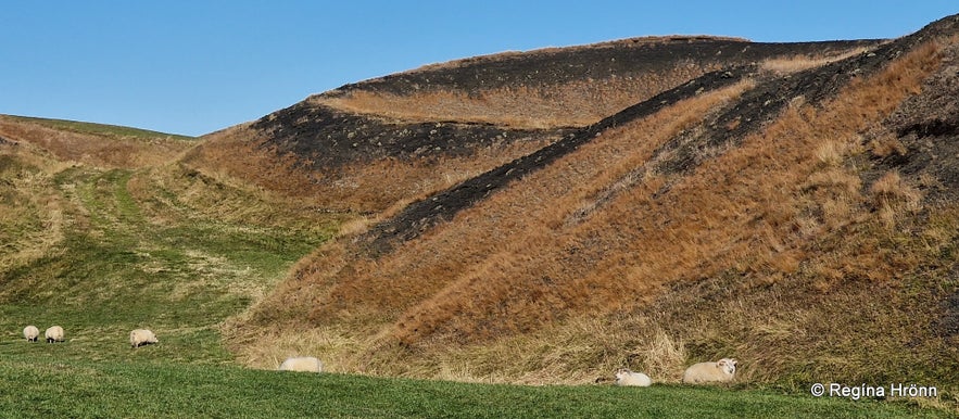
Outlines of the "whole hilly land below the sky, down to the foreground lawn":
[[[0,115],[4,373],[273,383],[214,368],[312,354],[350,374],[671,384],[735,357],[735,389],[916,383],[945,395],[913,403],[955,409],[957,98],[959,15],[898,39],[470,58],[200,138]],[[18,338],[52,322],[70,344]],[[135,327],[162,344],[130,351]]]

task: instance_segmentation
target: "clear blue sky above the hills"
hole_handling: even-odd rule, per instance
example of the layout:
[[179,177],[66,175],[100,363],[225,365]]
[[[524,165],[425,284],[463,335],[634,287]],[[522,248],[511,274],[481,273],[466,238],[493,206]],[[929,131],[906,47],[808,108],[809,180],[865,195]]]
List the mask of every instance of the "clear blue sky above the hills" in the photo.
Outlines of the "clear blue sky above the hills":
[[0,0],[0,113],[202,135],[467,56],[645,35],[894,38],[955,13],[955,0]]

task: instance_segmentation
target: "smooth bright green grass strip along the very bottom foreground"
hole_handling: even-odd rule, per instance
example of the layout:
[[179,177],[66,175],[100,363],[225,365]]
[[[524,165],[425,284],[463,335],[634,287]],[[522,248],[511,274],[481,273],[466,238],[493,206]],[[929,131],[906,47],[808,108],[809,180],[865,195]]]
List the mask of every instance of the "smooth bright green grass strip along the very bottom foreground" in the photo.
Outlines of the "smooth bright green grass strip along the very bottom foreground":
[[[207,418],[897,418],[950,417],[901,403],[724,388],[515,386],[312,374],[174,361],[64,361],[78,342],[4,342],[0,414]],[[163,351],[163,344],[137,352]],[[33,352],[33,354],[24,354]]]

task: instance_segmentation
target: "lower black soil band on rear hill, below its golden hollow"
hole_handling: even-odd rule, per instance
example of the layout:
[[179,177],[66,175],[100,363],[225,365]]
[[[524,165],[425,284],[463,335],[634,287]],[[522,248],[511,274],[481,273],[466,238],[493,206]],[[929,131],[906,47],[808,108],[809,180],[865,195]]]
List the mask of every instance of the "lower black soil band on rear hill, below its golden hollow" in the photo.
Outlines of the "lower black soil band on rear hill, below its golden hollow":
[[566,130],[510,129],[455,122],[402,123],[343,113],[300,102],[267,115],[252,128],[263,134],[261,147],[292,154],[315,172],[392,157],[441,158],[470,155],[477,149],[515,141],[543,140]]

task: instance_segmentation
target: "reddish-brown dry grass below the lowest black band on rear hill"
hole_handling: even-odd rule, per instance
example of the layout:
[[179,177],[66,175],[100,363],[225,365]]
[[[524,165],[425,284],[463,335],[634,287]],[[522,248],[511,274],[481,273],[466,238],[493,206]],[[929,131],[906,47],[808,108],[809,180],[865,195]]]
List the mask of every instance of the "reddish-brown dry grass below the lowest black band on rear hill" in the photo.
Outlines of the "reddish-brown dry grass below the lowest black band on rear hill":
[[184,162],[237,188],[310,202],[325,211],[381,213],[529,154],[547,140],[491,145],[467,156],[357,161],[326,170],[314,170],[298,156],[278,155],[261,141],[249,127],[232,127],[210,136]]

